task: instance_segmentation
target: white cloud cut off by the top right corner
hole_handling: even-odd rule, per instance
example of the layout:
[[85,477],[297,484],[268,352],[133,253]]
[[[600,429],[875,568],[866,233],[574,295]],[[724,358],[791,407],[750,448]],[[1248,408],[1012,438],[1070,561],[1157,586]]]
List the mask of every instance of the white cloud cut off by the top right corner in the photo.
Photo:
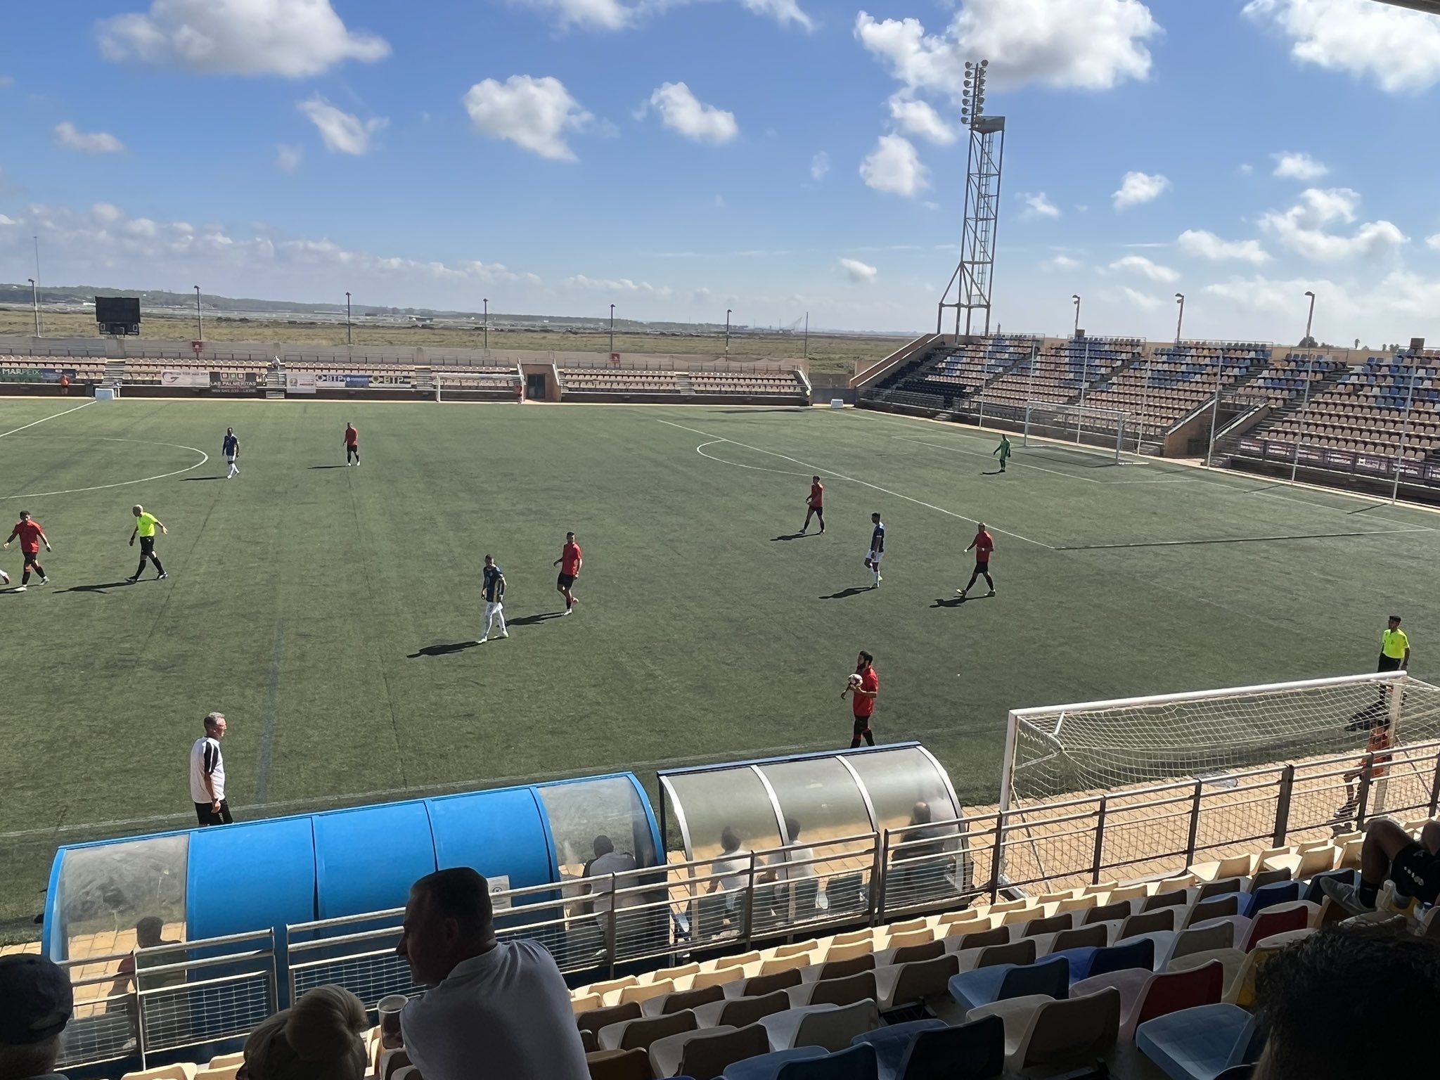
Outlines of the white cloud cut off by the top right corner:
[[1290,39],[1290,56],[1374,79],[1391,94],[1440,82],[1440,19],[1374,0],[1250,0],[1244,14]]

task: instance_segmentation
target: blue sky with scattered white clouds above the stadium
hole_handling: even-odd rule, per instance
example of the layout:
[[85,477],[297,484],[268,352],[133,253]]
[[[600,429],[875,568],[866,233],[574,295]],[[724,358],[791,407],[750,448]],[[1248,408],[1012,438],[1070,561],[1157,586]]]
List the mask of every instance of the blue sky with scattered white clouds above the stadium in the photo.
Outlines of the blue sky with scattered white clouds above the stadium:
[[1440,340],[1440,19],[1372,0],[91,0],[0,37],[0,281],[935,328],[965,60],[994,324]]

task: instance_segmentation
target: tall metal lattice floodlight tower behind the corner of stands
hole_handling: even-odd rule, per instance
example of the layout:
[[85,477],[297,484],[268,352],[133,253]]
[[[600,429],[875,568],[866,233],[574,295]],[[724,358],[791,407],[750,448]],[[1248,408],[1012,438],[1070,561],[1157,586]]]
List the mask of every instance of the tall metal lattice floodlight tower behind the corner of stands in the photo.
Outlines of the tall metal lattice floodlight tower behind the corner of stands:
[[[965,166],[965,223],[960,235],[960,265],[940,297],[935,333],[942,333],[945,310],[955,308],[955,333],[971,333],[976,311],[985,312],[989,333],[991,278],[995,272],[995,229],[999,223],[999,173],[1005,157],[1005,118],[985,115],[985,79],[989,60],[965,62],[960,122],[971,132]],[[955,300],[950,300],[952,291]]]

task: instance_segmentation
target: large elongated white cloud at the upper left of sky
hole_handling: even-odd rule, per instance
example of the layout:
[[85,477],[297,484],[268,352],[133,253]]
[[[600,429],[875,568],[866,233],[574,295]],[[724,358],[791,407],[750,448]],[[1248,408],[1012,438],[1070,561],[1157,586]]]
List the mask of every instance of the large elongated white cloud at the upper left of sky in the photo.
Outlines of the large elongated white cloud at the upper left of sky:
[[390,55],[383,37],[347,29],[330,0],[153,0],[147,14],[118,14],[95,32],[107,60],[203,75],[298,79]]

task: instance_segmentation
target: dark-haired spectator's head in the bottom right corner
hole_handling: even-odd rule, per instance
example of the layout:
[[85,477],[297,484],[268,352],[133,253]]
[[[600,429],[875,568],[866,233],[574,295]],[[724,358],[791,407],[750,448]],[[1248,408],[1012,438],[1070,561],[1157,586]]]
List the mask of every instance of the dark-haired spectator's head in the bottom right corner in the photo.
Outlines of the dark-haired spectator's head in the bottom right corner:
[[1256,975],[1267,1037],[1251,1080],[1354,1080],[1434,1070],[1440,942],[1388,926],[1328,926]]

